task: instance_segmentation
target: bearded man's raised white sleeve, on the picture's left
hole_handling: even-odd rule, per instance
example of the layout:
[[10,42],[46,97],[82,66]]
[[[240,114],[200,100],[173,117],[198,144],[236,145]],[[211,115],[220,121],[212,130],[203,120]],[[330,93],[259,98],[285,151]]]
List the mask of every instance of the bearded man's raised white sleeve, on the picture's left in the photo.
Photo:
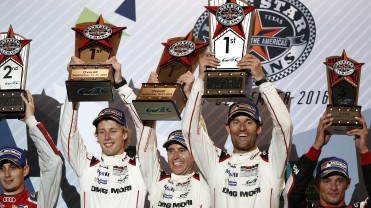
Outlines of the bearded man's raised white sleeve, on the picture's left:
[[203,80],[196,78],[191,94],[184,108],[182,131],[189,150],[193,154],[200,171],[210,180],[219,161],[221,149],[216,147],[200,124],[201,98],[204,91]]

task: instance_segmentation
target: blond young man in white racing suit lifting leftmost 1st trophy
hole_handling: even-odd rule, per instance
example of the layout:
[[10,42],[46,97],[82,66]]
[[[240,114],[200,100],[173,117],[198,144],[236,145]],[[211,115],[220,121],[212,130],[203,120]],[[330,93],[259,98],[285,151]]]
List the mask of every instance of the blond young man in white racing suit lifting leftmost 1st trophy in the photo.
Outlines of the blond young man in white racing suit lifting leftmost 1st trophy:
[[[71,63],[83,62],[72,57]],[[116,57],[106,63],[112,64],[115,70],[114,87],[118,89],[125,85]],[[124,151],[129,144],[124,113],[106,108],[93,121],[96,139],[102,148],[100,159],[88,153],[78,131],[77,114],[78,103],[73,106],[66,100],[61,138],[65,156],[79,178],[81,207],[144,207],[147,190],[138,159],[129,157]]]

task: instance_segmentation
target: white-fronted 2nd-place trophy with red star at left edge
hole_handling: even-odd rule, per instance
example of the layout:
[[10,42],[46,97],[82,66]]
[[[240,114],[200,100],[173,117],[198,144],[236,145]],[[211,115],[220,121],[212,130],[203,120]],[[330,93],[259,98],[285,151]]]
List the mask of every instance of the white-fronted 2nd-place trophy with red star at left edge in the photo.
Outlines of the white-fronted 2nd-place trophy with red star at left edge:
[[25,92],[28,54],[27,40],[13,32],[10,25],[7,33],[0,33],[0,118],[24,117],[25,104],[21,93]]

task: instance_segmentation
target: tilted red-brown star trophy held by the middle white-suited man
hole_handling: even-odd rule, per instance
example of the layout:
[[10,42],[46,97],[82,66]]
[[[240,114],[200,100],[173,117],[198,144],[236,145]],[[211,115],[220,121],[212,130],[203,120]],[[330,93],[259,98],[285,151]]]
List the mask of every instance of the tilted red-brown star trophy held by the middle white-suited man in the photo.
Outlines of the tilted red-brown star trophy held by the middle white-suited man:
[[160,83],[143,83],[137,100],[133,100],[141,120],[180,120],[187,98],[176,83],[187,71],[198,65],[199,55],[209,45],[192,36],[168,39],[156,73]]

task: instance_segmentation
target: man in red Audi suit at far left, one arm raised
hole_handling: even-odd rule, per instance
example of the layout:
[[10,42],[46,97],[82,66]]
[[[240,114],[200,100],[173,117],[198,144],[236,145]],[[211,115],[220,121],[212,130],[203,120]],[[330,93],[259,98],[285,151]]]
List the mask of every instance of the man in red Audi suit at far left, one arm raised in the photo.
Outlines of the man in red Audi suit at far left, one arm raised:
[[44,125],[35,119],[35,107],[31,93],[26,91],[26,95],[22,94],[21,97],[26,106],[25,117],[21,120],[29,127],[30,137],[37,148],[40,190],[29,194],[25,187],[25,177],[28,176],[30,167],[24,150],[12,146],[1,147],[0,183],[3,193],[0,195],[0,207],[55,207],[62,177],[62,158]]

